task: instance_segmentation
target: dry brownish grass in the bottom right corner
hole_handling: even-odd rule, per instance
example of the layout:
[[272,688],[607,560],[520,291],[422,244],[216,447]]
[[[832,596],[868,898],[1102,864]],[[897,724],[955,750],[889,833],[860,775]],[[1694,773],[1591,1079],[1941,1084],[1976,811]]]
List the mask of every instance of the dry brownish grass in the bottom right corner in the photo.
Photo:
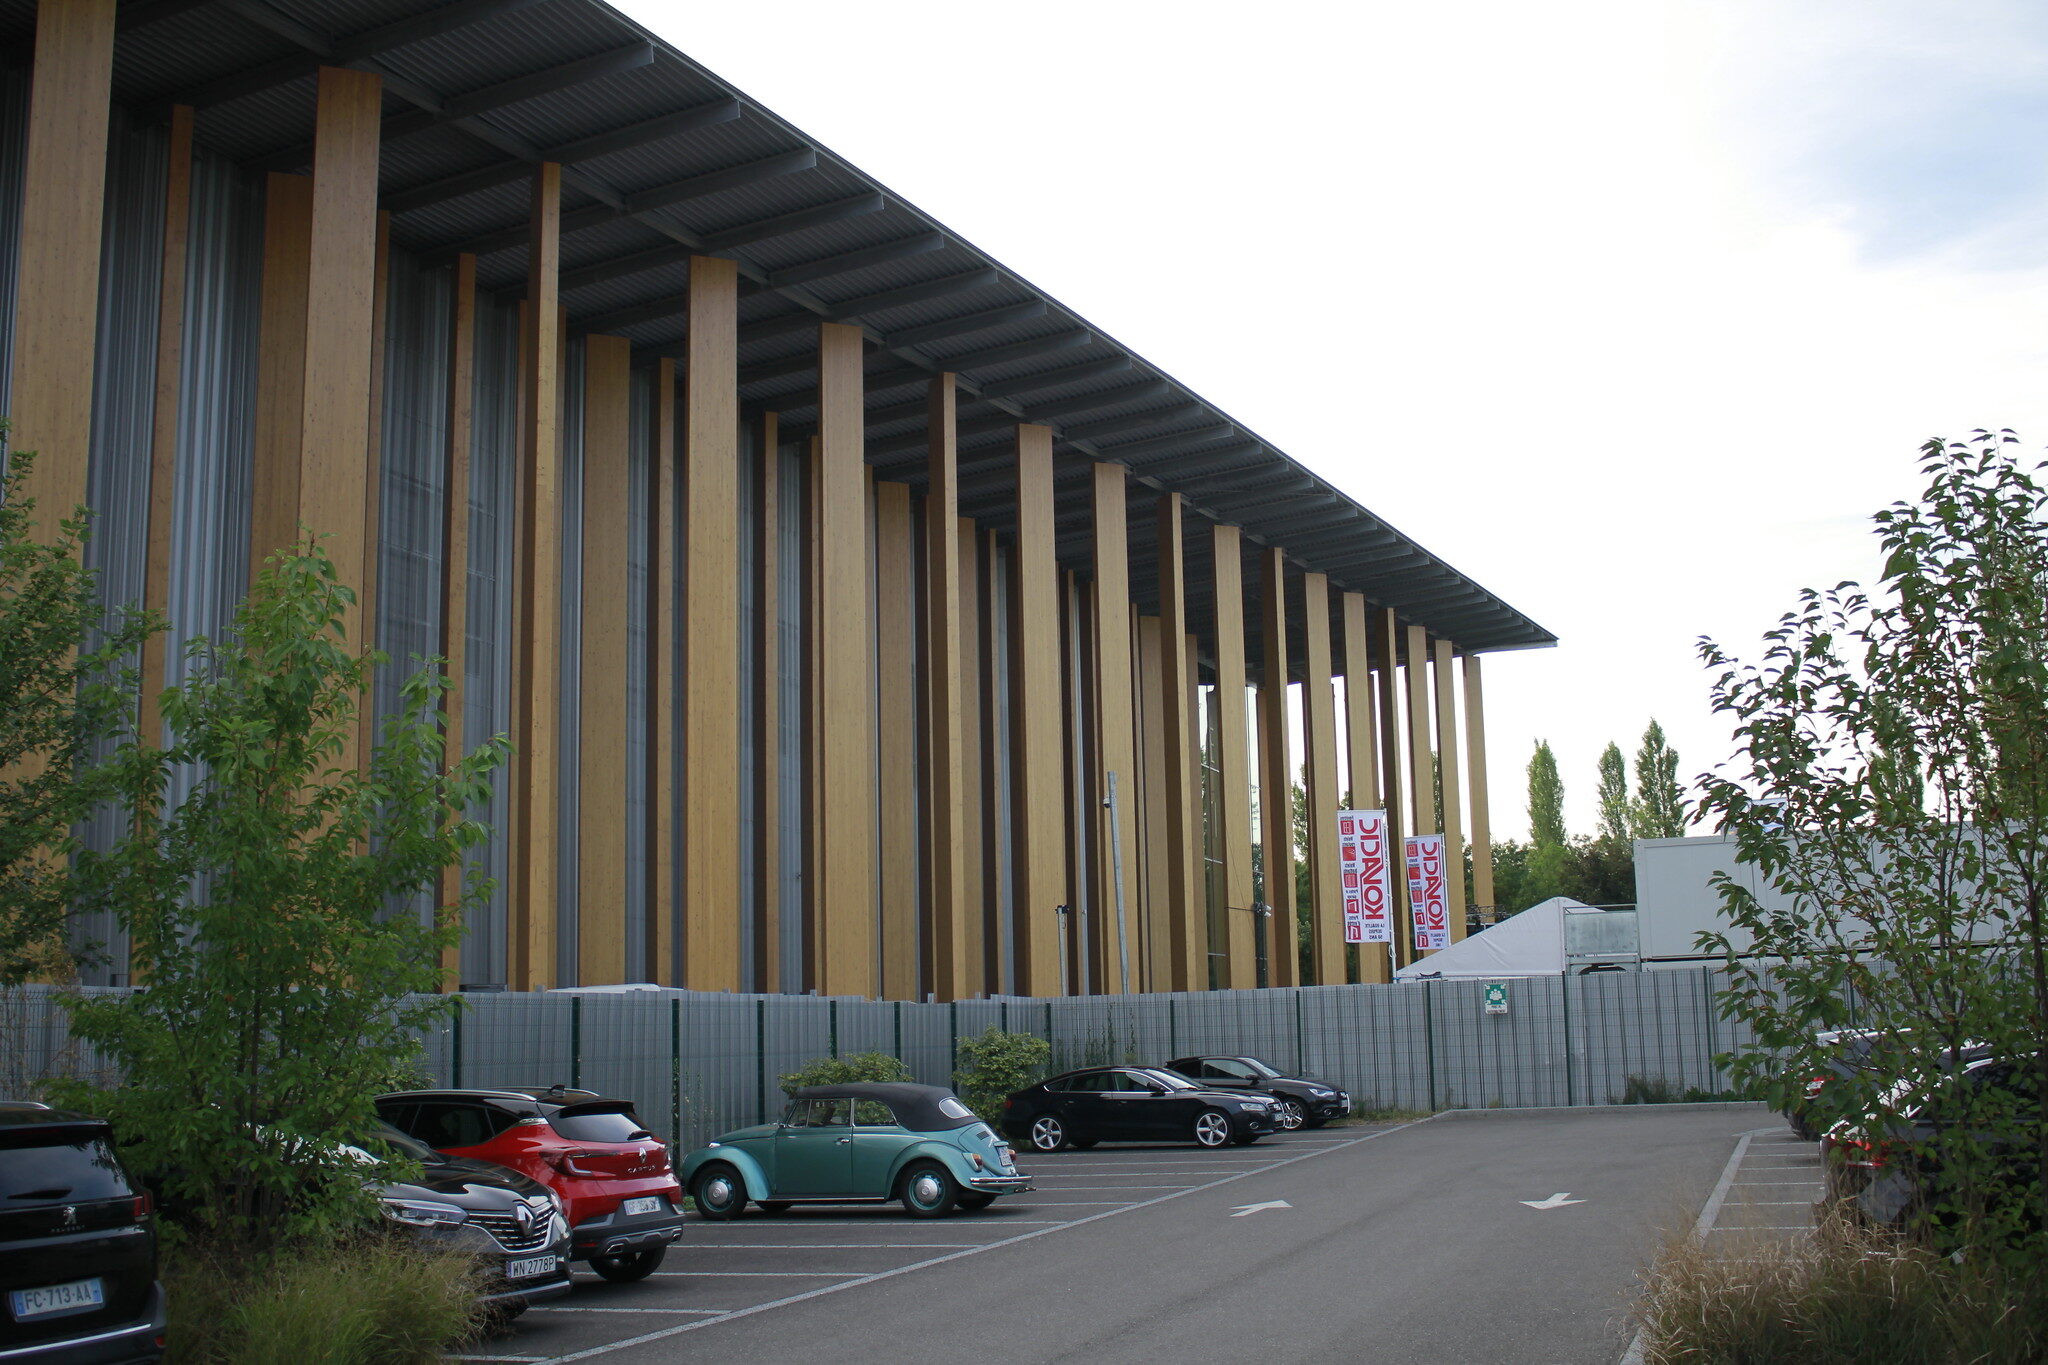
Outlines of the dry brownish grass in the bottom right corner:
[[2048,1359],[2036,1271],[1827,1216],[1794,1242],[1671,1240],[1634,1318],[1651,1365],[2034,1365]]

